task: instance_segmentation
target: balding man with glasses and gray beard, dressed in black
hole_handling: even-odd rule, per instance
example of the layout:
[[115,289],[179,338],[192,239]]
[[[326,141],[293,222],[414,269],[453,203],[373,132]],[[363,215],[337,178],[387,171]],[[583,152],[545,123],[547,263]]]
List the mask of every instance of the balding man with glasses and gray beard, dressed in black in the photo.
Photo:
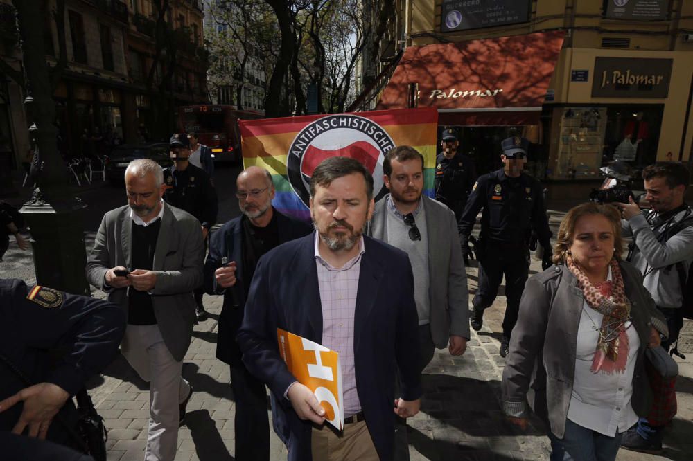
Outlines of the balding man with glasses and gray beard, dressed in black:
[[238,208],[243,213],[216,231],[204,264],[207,293],[224,295],[219,317],[216,356],[231,365],[231,389],[236,402],[236,460],[270,459],[270,423],[265,385],[240,360],[236,333],[260,257],[275,246],[308,235],[310,226],[279,213],[272,206],[272,174],[252,166],[236,179]]

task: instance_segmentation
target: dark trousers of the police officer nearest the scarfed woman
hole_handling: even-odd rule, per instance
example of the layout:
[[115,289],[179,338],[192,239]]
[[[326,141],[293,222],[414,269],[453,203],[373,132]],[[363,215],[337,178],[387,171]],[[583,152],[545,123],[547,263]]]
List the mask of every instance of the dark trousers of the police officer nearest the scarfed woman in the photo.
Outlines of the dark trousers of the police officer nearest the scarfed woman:
[[526,246],[486,245],[479,260],[479,288],[472,300],[474,309],[482,311],[493,304],[504,275],[507,305],[503,336],[509,339],[518,321],[520,298],[529,276],[529,250]]

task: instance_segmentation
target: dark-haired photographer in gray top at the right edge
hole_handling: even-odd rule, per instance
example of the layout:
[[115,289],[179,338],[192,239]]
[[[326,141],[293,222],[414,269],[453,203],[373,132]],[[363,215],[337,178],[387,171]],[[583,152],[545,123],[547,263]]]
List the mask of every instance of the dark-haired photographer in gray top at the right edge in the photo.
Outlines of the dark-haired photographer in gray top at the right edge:
[[[667,319],[669,338],[662,346],[669,350],[683,326],[679,270],[687,273],[693,260],[693,214],[683,201],[690,176],[680,163],[660,162],[645,168],[642,179],[651,210],[641,212],[633,199],[615,205],[624,219],[624,235],[633,237],[629,261],[644,276],[644,287]],[[621,446],[647,453],[661,451],[663,425],[650,423],[640,419],[624,434]]]

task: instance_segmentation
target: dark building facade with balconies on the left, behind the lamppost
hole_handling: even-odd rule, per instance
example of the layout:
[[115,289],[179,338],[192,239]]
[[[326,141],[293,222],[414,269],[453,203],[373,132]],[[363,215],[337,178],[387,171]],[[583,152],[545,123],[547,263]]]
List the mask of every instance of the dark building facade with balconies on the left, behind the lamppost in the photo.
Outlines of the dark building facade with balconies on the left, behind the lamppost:
[[[64,42],[67,66],[55,89],[61,154],[69,159],[85,154],[107,154],[114,144],[137,143],[147,136],[164,136],[175,129],[170,121],[152,126],[152,107],[166,93],[175,106],[207,102],[207,59],[202,37],[201,0],[163,0],[166,45],[175,49],[175,69],[166,69],[157,49],[157,0],[67,0],[64,9]],[[60,57],[60,37],[53,20],[55,0],[43,3],[46,18],[46,61]],[[0,34],[7,36],[0,59],[21,70],[15,10],[0,0]],[[159,38],[161,40],[161,38]],[[150,73],[153,63],[157,62]],[[173,67],[173,66],[172,66]],[[169,75],[170,74],[170,75]],[[24,89],[4,79],[0,107],[2,137],[11,138],[12,168],[26,159],[30,145],[24,114]],[[163,127],[163,125],[167,125]],[[170,125],[170,126],[168,126]]]

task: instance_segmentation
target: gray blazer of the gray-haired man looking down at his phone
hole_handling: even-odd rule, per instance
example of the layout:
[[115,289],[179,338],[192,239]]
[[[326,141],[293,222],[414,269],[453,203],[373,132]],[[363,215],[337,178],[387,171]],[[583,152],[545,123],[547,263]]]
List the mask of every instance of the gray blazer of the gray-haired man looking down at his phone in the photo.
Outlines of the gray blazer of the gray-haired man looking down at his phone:
[[[115,266],[132,267],[132,218],[130,207],[106,213],[96,233],[87,261],[87,280],[108,293],[108,300],[128,313],[127,289],[106,287],[106,272]],[[204,243],[200,222],[180,208],[164,204],[161,229],[154,253],[157,284],[152,304],[164,343],[173,358],[182,361],[190,345],[195,323],[192,291],[202,285]],[[137,269],[137,268],[136,268]]]

